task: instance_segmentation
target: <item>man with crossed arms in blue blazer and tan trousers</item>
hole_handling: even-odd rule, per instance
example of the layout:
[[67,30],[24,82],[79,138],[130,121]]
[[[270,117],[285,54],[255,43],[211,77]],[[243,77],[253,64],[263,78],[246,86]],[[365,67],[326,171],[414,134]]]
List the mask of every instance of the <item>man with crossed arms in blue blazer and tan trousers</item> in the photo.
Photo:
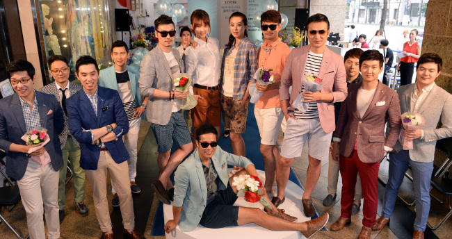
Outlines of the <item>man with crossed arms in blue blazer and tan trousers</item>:
[[129,131],[129,121],[118,91],[97,86],[99,69],[90,56],[81,56],[75,64],[77,79],[83,90],[67,99],[67,117],[72,136],[80,143],[80,166],[92,186],[97,220],[103,238],[113,238],[106,201],[106,172],[121,201],[124,233],[131,238],[143,238],[135,227],[134,202],[129,183],[129,154],[122,135]]

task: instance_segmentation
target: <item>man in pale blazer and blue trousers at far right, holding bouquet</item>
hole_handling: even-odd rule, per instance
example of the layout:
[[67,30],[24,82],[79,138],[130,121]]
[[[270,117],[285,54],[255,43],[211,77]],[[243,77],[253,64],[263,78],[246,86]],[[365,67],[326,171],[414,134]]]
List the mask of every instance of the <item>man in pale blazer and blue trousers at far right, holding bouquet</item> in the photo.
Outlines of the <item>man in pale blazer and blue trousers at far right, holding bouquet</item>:
[[[389,179],[383,197],[382,216],[373,230],[380,230],[389,223],[396,199],[408,166],[413,174],[416,193],[416,220],[413,238],[423,238],[430,211],[430,179],[433,172],[437,140],[452,137],[452,94],[435,84],[441,74],[442,58],[436,53],[423,53],[417,62],[416,83],[398,88],[401,112],[419,113],[425,124],[415,131],[403,134],[413,140],[413,149],[403,150],[397,142],[396,154],[389,155]],[[439,122],[442,123],[438,127]]]

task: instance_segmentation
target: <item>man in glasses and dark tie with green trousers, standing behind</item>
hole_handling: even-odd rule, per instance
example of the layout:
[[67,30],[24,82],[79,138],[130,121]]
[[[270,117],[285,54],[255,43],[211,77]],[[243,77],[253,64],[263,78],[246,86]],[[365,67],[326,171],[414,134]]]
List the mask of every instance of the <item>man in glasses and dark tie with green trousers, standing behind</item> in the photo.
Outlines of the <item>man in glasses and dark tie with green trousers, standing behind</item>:
[[65,217],[66,208],[67,160],[70,160],[72,174],[74,174],[72,184],[74,185],[75,208],[80,215],[88,215],[88,207],[83,203],[83,200],[85,200],[85,170],[80,167],[79,142],[72,138],[70,134],[66,110],[66,99],[81,90],[81,85],[69,81],[70,67],[64,56],[51,56],[48,63],[49,73],[54,79],[54,82],[45,85],[39,91],[46,94],[53,94],[58,102],[60,102],[60,106],[63,108],[65,115],[65,129],[58,135],[61,151],[63,152],[63,167],[60,169],[60,181],[58,183],[58,206],[60,207],[59,216],[61,224]]

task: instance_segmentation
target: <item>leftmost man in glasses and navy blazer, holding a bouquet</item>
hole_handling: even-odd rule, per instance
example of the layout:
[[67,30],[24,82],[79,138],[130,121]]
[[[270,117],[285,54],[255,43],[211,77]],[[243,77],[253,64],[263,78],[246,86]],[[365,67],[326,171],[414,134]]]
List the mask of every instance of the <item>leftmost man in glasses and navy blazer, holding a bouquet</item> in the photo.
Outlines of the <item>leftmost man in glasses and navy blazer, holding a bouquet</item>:
[[[8,65],[8,77],[17,94],[0,100],[0,149],[6,156],[6,174],[17,179],[30,238],[46,238],[42,218],[45,205],[47,238],[60,237],[58,217],[58,170],[63,165],[60,140],[65,119],[63,109],[51,94],[37,92],[35,68],[26,60],[15,60]],[[22,135],[37,127],[47,129],[50,141],[28,154]],[[42,165],[31,156],[47,153],[50,163]]]

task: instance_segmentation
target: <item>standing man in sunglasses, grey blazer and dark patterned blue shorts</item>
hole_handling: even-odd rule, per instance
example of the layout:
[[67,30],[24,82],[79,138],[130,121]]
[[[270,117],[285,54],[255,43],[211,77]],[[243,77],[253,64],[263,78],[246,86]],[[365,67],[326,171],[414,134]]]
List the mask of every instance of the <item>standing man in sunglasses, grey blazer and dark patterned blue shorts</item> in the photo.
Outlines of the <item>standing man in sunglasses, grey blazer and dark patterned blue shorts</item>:
[[[173,74],[183,73],[179,51],[171,49],[175,40],[175,24],[171,17],[161,15],[154,22],[159,46],[147,53],[140,65],[140,93],[148,97],[146,119],[151,122],[152,132],[157,141],[159,156],[157,161],[161,175],[151,186],[164,204],[170,204],[174,188],[170,175],[190,154],[192,149],[190,131],[182,110],[174,99],[185,99],[188,92],[175,90]],[[178,149],[171,154],[172,142]]]

